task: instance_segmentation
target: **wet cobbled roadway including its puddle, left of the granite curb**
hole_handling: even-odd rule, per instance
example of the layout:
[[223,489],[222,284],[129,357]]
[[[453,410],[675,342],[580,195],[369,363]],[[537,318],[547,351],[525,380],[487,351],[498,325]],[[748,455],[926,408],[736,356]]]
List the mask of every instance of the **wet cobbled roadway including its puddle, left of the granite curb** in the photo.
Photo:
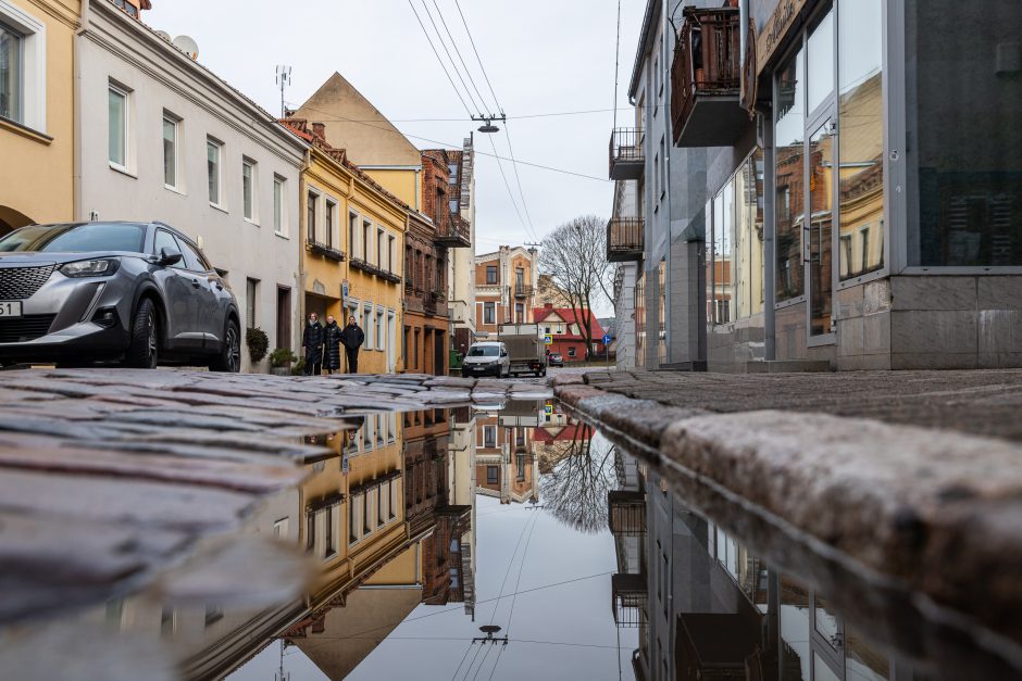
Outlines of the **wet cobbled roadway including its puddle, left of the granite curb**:
[[0,396],[18,678],[1022,678],[996,630],[512,399],[535,383],[46,379]]

